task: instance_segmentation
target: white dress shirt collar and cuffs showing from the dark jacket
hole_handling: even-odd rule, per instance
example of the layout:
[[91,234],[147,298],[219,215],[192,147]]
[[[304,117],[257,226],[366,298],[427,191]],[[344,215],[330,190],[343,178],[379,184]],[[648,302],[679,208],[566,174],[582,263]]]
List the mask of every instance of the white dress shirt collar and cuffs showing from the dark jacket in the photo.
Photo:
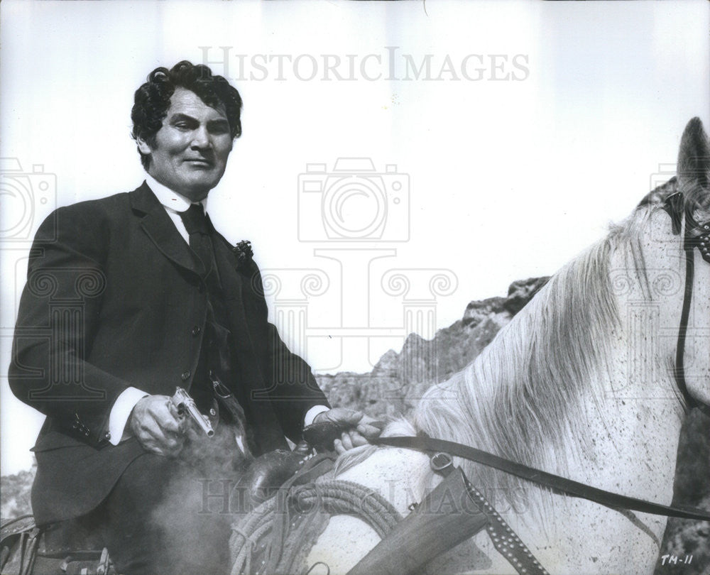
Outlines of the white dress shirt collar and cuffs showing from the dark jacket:
[[[168,212],[168,216],[175,224],[175,227],[180,232],[180,236],[185,240],[186,243],[190,243],[190,234],[187,233],[185,224],[182,223],[182,218],[180,217],[181,212],[185,212],[192,202],[189,198],[178,194],[178,192],[173,192],[170,188],[165,187],[163,184],[155,180],[153,176],[146,173],[146,183],[148,187],[153,190],[155,197],[158,198],[158,202],[163,205],[165,212]],[[196,202],[197,203],[197,202]],[[201,202],[202,209],[204,213],[207,213],[207,198],[204,198]],[[131,411],[133,407],[136,406],[138,400],[145,398],[147,395],[145,391],[138,388],[126,388],[116,401],[114,406],[111,407],[111,413],[109,414],[109,442],[113,445],[118,445],[124,439],[128,439],[131,436],[130,429],[126,429],[126,423],[131,416]],[[325,405],[314,405],[306,412],[303,425],[310,425],[315,417],[327,411],[329,408]]]

